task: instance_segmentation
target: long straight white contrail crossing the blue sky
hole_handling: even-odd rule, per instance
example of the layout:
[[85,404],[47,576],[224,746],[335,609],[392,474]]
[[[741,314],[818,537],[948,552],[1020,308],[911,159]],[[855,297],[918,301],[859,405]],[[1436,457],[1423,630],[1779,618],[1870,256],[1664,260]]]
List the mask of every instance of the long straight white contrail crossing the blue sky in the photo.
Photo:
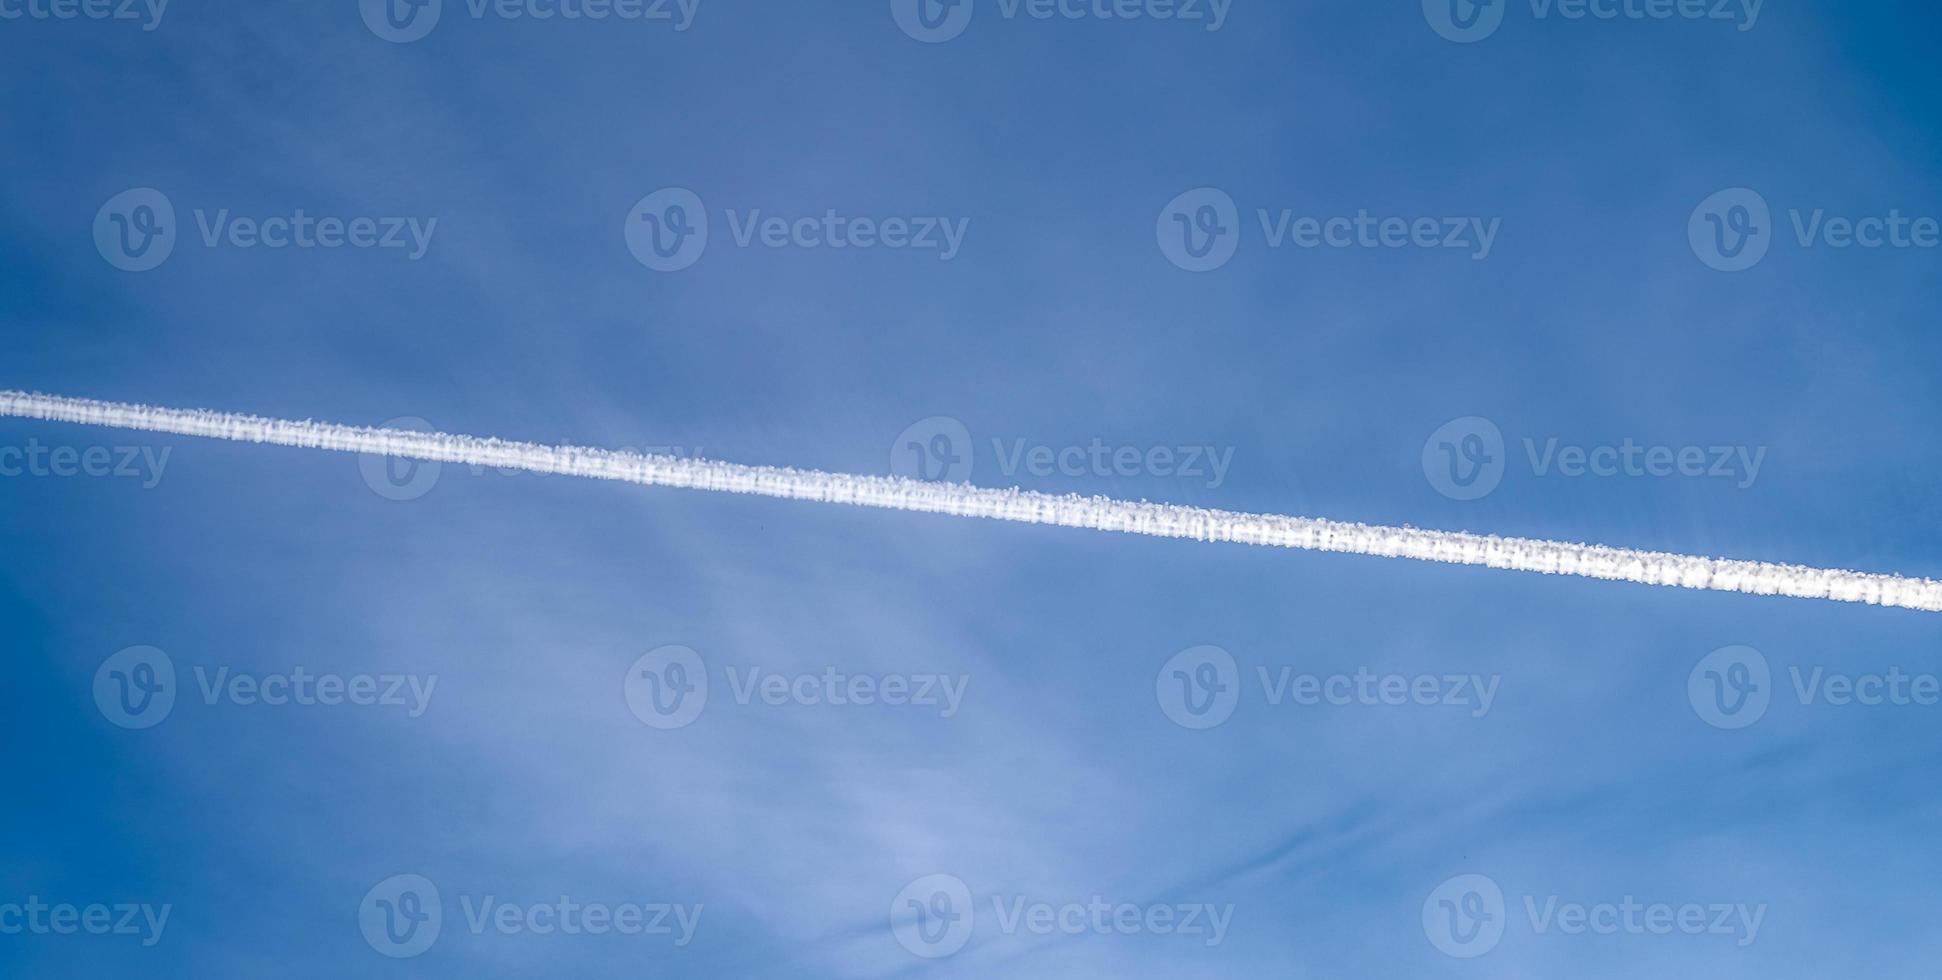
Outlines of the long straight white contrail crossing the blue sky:
[[794,501],[922,510],[1023,524],[1058,524],[1101,532],[1148,534],[1154,538],[1239,541],[1390,559],[1486,565],[1524,572],[1577,574],[1647,586],[1711,588],[1717,592],[1866,602],[1872,605],[1942,611],[1942,582],[1901,578],[1895,574],[1810,569],[1804,565],[1703,559],[1624,547],[1344,524],[1280,514],[1243,514],[1200,506],[1115,501],[1109,497],[1055,497],[1021,489],[985,489],[967,483],[924,483],[901,477],[740,466],[583,446],[542,446],[445,433],[260,419],[231,415],[227,411],[184,411],[8,390],[0,390],[0,415],[530,470],[534,474],[621,479],[656,487],[755,493]]

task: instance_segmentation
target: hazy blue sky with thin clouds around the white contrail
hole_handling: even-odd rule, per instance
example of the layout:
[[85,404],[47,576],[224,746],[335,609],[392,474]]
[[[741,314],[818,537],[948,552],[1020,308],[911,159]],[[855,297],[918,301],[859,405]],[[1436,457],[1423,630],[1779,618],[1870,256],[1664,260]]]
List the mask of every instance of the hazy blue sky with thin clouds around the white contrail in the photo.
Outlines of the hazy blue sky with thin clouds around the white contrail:
[[[1820,237],[1942,217],[1930,6],[1773,0],[1748,23],[1517,0],[1474,43],[1412,2],[1233,0],[1220,29],[1029,8],[977,0],[921,41],[884,2],[701,0],[678,29],[445,0],[392,43],[353,0],[175,0],[151,31],[0,0],[23,12],[0,17],[0,388],[864,474],[948,417],[985,485],[1942,576],[1942,254]],[[132,188],[175,212],[148,272],[95,237]],[[629,248],[664,188],[709,221],[676,272]],[[1161,235],[1198,188],[1235,208],[1210,272]],[[1730,188],[1767,208],[1744,272],[1690,237]],[[297,210],[429,235],[419,258],[233,235]],[[1284,212],[1497,231],[1482,258],[1276,248]],[[963,239],[944,258],[750,229],[827,213]],[[1503,439],[1499,485],[1455,499],[1425,442],[1468,417]],[[1093,444],[1229,462],[1008,464]],[[1546,462],[1625,444],[1763,456],[1724,477]],[[97,446],[134,475],[54,472]],[[1808,978],[1936,955],[1942,708],[1820,687],[1932,675],[1923,613],[452,466],[400,501],[350,456],[21,421],[6,448],[10,976]],[[682,728],[627,697],[668,644],[711,685]],[[95,691],[134,646],[177,683],[144,730]],[[1206,730],[1163,697],[1198,646],[1239,697]],[[1726,646],[1769,673],[1744,728],[1703,697]],[[418,716],[196,683],[299,666],[437,681]],[[967,687],[950,716],[738,702],[753,668]],[[1480,716],[1272,704],[1284,668],[1495,693]],[[443,908],[408,959],[359,930],[394,875]],[[889,918],[930,875],[975,908],[938,959]],[[1474,957],[1425,928],[1460,875],[1503,897],[1456,891],[1503,928],[1453,947]],[[35,897],[169,918],[150,947],[6,931]],[[474,931],[484,897],[701,916],[686,945]],[[1093,897],[1231,922],[1210,945],[998,914]],[[1530,912],[1627,897],[1761,926]]]

